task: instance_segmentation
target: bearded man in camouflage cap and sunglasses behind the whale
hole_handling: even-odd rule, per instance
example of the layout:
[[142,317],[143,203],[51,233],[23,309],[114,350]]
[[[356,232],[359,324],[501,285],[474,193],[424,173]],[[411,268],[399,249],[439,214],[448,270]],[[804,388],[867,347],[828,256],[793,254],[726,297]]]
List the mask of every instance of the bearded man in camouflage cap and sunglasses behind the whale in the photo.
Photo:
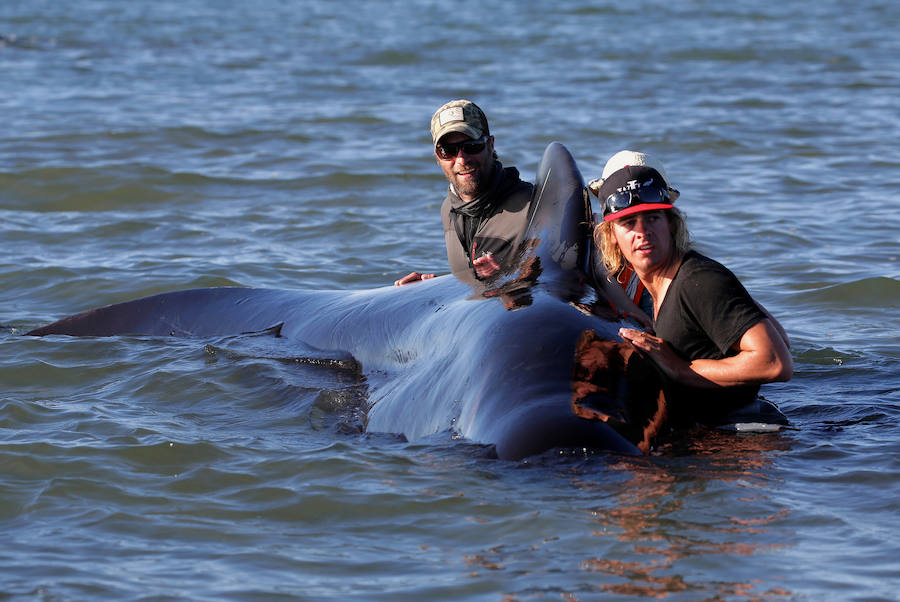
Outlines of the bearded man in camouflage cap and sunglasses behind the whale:
[[[453,100],[431,118],[435,160],[450,182],[441,206],[450,270],[470,280],[510,267],[525,234],[532,185],[515,167],[503,167],[484,112],[470,100]],[[412,272],[400,286],[433,278]]]

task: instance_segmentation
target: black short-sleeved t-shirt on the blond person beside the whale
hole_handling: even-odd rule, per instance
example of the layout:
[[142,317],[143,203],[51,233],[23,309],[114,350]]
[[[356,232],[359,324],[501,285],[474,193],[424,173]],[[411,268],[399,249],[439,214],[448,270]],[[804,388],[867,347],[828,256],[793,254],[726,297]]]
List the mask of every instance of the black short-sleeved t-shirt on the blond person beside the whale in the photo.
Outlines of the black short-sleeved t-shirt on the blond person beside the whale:
[[[764,319],[766,315],[728,268],[689,251],[666,291],[654,330],[687,361],[723,359],[737,355],[731,346]],[[692,413],[704,416],[700,422],[715,422],[721,413],[752,401],[759,386],[678,387],[676,391]]]

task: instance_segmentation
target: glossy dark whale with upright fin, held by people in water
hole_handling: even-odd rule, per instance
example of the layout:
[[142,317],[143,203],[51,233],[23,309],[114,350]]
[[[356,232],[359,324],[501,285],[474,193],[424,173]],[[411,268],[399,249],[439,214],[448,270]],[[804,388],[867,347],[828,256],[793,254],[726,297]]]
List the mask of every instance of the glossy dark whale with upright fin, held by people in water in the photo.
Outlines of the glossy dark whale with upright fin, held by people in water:
[[641,399],[629,391],[628,361],[601,362],[608,373],[594,370],[587,396],[577,376],[587,339],[603,342],[594,349],[606,344],[604,354],[625,344],[617,342],[622,324],[614,314],[584,311],[597,295],[584,276],[590,205],[559,143],[538,168],[532,212],[515,269],[487,282],[446,275],[359,291],[192,289],[89,310],[28,334],[271,330],[304,349],[352,355],[368,383],[368,432],[416,440],[450,430],[511,460],[555,448],[646,452],[664,413],[655,371],[638,370]]

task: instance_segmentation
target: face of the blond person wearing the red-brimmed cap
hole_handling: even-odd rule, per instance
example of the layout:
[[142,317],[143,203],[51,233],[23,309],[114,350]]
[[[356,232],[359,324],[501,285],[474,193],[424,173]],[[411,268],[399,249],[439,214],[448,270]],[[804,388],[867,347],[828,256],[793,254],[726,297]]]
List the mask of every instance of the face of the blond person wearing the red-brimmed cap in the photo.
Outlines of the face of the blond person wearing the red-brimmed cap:
[[665,211],[641,211],[613,220],[613,236],[625,261],[638,274],[665,266],[672,258],[673,244]]

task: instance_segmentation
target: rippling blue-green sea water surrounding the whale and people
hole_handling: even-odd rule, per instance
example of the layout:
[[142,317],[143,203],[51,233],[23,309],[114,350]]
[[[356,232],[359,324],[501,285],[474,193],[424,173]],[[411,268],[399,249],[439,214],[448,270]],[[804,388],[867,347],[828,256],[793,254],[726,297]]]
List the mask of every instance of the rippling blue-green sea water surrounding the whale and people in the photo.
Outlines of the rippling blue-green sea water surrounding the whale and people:
[[[900,5],[0,4],[0,598],[896,600]],[[252,341],[33,339],[197,286],[444,273],[428,122],[666,164],[792,428],[491,459]],[[477,367],[473,366],[473,369]]]

